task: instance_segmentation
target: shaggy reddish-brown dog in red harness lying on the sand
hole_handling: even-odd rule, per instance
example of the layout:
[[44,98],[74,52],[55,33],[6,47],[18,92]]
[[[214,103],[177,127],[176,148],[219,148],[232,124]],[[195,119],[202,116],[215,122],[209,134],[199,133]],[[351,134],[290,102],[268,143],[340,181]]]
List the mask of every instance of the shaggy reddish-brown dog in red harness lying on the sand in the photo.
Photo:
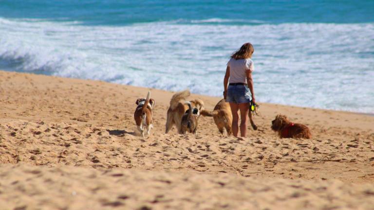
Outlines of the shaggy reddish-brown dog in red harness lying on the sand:
[[307,126],[299,123],[292,123],[284,115],[277,115],[275,117],[275,120],[271,122],[271,129],[278,132],[281,138],[312,138],[312,134]]

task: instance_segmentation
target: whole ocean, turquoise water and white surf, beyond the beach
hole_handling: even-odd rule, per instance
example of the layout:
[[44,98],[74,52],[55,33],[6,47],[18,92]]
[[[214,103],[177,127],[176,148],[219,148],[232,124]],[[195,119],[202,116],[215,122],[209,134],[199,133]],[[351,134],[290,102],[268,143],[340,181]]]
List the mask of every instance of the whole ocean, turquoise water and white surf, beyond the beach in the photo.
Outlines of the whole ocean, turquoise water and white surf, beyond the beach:
[[0,0],[0,69],[222,96],[251,42],[258,102],[374,113],[374,0]]

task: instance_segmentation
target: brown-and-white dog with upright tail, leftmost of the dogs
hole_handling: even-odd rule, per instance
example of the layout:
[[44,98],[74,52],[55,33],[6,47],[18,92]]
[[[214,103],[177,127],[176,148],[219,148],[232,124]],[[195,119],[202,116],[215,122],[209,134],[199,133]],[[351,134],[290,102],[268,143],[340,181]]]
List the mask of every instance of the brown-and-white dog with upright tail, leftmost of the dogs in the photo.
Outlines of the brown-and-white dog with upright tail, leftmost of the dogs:
[[150,136],[150,129],[152,125],[152,110],[155,104],[155,101],[150,98],[150,91],[148,91],[146,99],[137,99],[135,109],[134,119],[137,125],[138,131],[144,137],[145,132]]

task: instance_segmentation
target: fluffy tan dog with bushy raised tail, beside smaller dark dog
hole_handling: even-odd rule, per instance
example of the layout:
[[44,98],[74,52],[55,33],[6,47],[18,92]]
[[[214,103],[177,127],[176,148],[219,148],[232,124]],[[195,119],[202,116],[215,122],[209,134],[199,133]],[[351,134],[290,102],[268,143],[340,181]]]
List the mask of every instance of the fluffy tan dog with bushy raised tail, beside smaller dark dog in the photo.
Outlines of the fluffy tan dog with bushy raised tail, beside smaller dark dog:
[[[168,114],[166,119],[166,130],[165,133],[168,133],[172,126],[175,124],[177,127],[177,131],[181,133],[181,122],[182,117],[186,113],[188,109],[188,105],[186,103],[181,103],[180,101],[186,101],[186,98],[190,95],[189,90],[184,90],[181,92],[177,92],[171,97],[170,106],[168,108]],[[195,99],[190,101],[191,106],[193,108],[197,108],[199,112],[204,109],[204,102],[200,99]]]

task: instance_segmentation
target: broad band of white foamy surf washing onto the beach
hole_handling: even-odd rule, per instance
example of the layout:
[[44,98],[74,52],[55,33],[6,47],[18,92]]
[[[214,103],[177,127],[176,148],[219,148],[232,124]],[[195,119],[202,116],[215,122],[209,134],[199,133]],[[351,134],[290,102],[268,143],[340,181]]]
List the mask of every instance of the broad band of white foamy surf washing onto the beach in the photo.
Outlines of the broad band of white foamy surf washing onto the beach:
[[260,102],[374,113],[374,24],[85,26],[0,18],[0,67],[221,96],[230,53],[255,47]]

